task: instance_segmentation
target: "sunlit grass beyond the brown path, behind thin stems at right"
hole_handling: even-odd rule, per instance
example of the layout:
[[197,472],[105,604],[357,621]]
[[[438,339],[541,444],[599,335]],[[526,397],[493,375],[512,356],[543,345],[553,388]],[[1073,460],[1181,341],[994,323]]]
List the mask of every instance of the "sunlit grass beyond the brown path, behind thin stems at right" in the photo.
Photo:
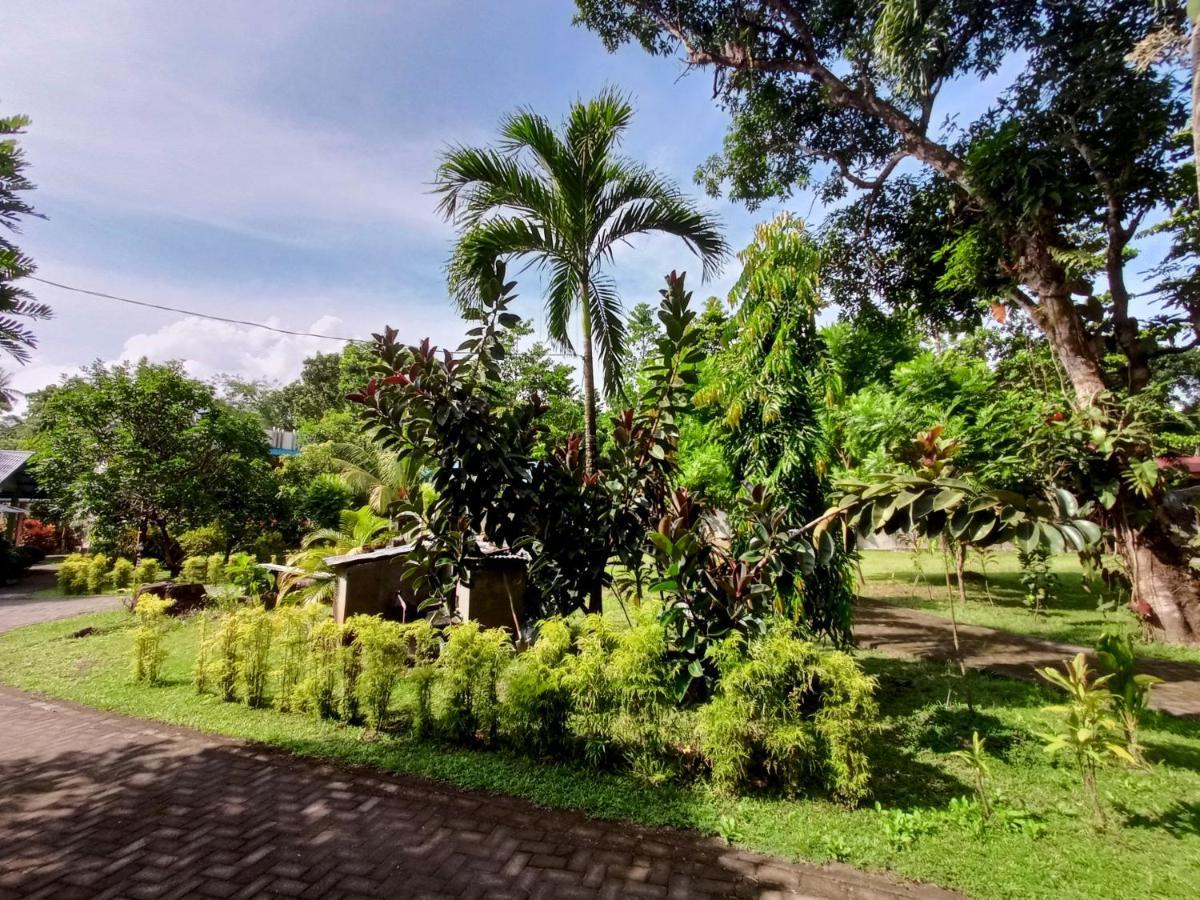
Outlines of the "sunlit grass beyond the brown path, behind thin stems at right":
[[[1025,606],[1021,568],[1015,552],[997,552],[988,563],[986,587],[979,557],[970,554],[967,604],[962,606],[956,602],[955,606],[959,622],[1082,647],[1093,647],[1102,631],[1115,629],[1133,635],[1138,653],[1142,656],[1200,662],[1200,648],[1142,641],[1141,626],[1123,605],[1111,610],[1099,608],[1097,595],[1084,587],[1076,557],[1054,557],[1050,568],[1058,576],[1057,595],[1044,612],[1034,614]],[[949,618],[946,569],[941,553],[863,551],[862,574],[864,582],[859,593],[863,596]],[[956,586],[954,589],[956,601]]]

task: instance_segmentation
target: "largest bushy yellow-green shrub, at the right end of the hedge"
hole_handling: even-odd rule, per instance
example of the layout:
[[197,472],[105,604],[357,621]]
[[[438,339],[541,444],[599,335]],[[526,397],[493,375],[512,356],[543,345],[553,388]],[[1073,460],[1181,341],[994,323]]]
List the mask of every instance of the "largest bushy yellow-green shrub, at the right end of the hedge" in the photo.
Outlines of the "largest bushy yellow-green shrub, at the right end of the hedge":
[[868,793],[875,680],[786,620],[716,653],[718,695],[700,712],[701,749],[721,788],[769,776],[786,791],[816,782],[845,800]]

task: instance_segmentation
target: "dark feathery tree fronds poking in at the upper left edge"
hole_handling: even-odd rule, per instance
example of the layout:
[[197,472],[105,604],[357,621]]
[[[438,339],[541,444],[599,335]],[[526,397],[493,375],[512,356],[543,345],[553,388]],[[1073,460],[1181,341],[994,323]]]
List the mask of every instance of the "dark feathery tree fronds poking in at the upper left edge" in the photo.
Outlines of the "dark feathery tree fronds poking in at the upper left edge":
[[[20,319],[44,319],[50,307],[37,302],[30,293],[17,284],[19,278],[32,275],[34,260],[25,256],[8,236],[20,232],[22,218],[37,212],[25,199],[34,190],[25,175],[28,162],[17,143],[29,126],[24,115],[0,116],[0,349],[18,362],[29,360],[29,352],[37,346],[34,332]],[[0,396],[10,396],[7,388]]]

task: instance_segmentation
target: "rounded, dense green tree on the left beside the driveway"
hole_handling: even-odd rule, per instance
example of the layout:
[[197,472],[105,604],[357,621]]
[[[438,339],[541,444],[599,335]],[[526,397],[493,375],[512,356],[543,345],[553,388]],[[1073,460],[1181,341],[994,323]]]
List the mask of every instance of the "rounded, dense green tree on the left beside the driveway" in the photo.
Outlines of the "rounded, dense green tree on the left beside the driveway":
[[173,571],[186,528],[241,536],[275,496],[257,416],[232,409],[179,365],[95,364],[43,392],[32,468],[62,518],[137,534]]

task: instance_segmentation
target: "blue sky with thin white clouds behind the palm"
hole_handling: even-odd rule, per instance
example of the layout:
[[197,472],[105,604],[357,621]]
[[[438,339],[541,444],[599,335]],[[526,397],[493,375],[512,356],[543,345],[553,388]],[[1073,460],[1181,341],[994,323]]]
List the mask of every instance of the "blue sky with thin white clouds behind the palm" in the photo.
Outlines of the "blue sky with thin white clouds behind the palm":
[[[720,148],[710,76],[640,48],[608,54],[570,0],[8,0],[0,108],[24,139],[46,221],[23,246],[42,277],[286,328],[362,337],[391,324],[457,344],[442,274],[452,233],[428,193],[439,154],[486,143],[506,112],[558,119],[616,85],[637,115],[625,152],[677,178]],[[976,114],[1004,82],[952,85]],[[778,209],[702,203],[734,247]],[[671,239],[618,257],[626,307],[698,266]],[[1134,269],[1141,266],[1136,265]],[[724,294],[736,265],[697,294]],[[698,280],[697,280],[698,281]],[[538,284],[517,311],[541,332]],[[20,390],[95,359],[181,359],[199,377],[286,380],[338,344],[186,319],[37,287],[56,311]]]

